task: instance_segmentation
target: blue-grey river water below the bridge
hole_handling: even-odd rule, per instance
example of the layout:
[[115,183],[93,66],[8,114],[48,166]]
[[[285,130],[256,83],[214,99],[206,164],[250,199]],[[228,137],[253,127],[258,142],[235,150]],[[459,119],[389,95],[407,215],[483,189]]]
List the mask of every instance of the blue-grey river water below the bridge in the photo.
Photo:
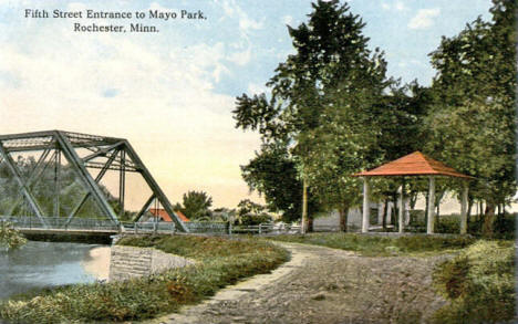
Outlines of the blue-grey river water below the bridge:
[[0,299],[32,289],[107,279],[110,247],[29,241],[0,251]]

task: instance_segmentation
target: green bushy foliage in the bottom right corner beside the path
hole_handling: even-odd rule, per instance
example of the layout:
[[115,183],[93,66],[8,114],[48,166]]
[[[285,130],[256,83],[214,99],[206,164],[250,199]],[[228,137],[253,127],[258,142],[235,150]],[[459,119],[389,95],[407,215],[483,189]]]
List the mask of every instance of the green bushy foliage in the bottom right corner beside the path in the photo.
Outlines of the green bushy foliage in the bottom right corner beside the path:
[[504,323],[515,316],[515,250],[511,241],[478,241],[434,274],[449,304],[436,323]]

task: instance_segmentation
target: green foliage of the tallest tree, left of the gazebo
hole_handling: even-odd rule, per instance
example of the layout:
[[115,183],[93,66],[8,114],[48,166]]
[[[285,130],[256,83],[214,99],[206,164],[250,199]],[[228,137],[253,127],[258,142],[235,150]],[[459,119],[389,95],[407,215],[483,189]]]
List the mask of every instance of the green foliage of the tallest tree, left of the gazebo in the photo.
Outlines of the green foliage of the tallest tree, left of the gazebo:
[[358,180],[349,176],[380,159],[371,122],[390,84],[383,54],[367,49],[362,20],[338,0],[312,7],[307,23],[288,28],[296,54],[267,83],[271,97],[244,94],[234,111],[236,127],[258,130],[263,142],[242,168],[245,179],[290,220],[301,213],[301,179],[310,186],[311,213],[322,203],[355,202]]

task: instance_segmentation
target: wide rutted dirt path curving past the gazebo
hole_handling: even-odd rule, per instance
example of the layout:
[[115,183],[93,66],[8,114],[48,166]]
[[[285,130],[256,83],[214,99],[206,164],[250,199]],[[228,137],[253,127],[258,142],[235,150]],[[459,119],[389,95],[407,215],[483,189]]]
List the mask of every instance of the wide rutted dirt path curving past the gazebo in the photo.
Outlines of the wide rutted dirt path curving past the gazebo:
[[444,303],[431,288],[444,257],[366,258],[280,244],[292,258],[273,273],[149,323],[426,323]]

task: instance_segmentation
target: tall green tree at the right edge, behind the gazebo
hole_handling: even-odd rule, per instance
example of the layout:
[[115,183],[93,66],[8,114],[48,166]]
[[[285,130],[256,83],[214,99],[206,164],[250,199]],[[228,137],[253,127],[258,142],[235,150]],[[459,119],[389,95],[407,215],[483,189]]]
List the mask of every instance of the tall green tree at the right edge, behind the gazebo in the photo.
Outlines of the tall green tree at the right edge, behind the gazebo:
[[437,75],[427,118],[429,154],[476,177],[470,200],[486,201],[486,234],[496,206],[516,191],[516,2],[493,2],[491,22],[478,18],[431,54]]

